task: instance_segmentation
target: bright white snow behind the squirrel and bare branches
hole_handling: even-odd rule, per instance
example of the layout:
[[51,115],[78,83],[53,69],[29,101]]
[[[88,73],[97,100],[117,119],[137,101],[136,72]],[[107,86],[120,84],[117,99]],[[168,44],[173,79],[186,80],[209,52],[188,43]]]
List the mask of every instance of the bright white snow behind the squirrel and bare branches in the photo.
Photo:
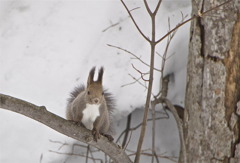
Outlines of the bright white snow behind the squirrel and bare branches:
[[[150,4],[153,8],[156,1]],[[150,19],[142,1],[127,1],[127,5],[130,9],[140,7],[132,13],[143,32],[150,36]],[[174,27],[181,21],[181,12],[190,14],[190,7],[190,0],[163,0],[157,17],[158,38],[168,31],[168,17]],[[189,24],[178,30],[171,43],[169,55],[173,56],[165,69],[165,74],[172,74],[169,99],[179,105],[184,105],[188,38]],[[115,119],[125,122],[127,114],[141,108],[146,97],[146,90],[140,84],[127,85],[133,82],[130,75],[140,77],[131,64],[142,72],[148,67],[107,44],[149,61],[149,45],[137,32],[120,1],[0,0],[0,93],[44,105],[65,117],[69,92],[74,86],[86,83],[93,66],[104,66],[104,86],[117,99]],[[159,44],[157,52],[162,54],[165,45],[165,41]],[[156,57],[155,64],[158,68],[161,66],[161,57]],[[154,79],[156,94],[160,74],[155,73]],[[178,142],[174,136],[175,122],[161,121],[162,126],[171,124],[172,127],[165,127],[170,136],[165,132],[165,139],[160,137],[159,145],[166,150],[169,147],[169,153],[174,151],[173,155],[177,155],[176,145],[164,145],[166,141]],[[1,163],[40,162],[40,157],[44,163],[53,162],[64,156],[49,152],[58,148],[49,139],[72,141],[38,122],[3,109],[0,109],[0,124]],[[160,151],[164,153],[163,149]]]

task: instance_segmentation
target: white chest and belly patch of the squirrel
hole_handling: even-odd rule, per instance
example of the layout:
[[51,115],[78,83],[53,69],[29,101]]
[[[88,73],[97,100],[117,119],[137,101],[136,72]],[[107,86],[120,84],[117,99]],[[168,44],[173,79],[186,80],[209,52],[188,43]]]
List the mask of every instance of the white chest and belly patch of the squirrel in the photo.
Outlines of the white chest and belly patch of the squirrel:
[[89,130],[93,129],[93,123],[96,120],[96,118],[100,115],[99,106],[100,105],[86,104],[86,108],[82,112],[83,113],[82,123]]

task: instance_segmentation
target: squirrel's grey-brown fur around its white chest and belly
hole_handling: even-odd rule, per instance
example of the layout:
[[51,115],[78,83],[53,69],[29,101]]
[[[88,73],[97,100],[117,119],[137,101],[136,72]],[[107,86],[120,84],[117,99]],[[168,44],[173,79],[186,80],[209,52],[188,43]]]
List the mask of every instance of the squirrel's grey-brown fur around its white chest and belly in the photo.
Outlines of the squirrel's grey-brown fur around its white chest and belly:
[[[92,104],[92,102],[94,101],[89,96],[91,96],[92,94],[96,97],[101,96],[98,98],[100,103],[100,116],[94,122],[94,128],[97,129],[101,134],[109,134],[113,132],[113,127],[111,126],[111,117],[115,109],[115,102],[112,94],[109,93],[107,90],[103,90],[102,88],[103,68],[99,70],[98,80],[96,82],[93,81],[94,72],[95,67],[93,67],[89,72],[87,88],[84,85],[79,85],[75,87],[74,90],[70,93],[70,98],[68,98],[67,100],[68,103],[66,117],[68,120],[81,123],[83,117],[82,112],[86,108],[86,104]],[[89,87],[91,86],[93,88],[89,89]],[[95,93],[97,91],[98,93]],[[101,95],[99,93],[100,91]]]

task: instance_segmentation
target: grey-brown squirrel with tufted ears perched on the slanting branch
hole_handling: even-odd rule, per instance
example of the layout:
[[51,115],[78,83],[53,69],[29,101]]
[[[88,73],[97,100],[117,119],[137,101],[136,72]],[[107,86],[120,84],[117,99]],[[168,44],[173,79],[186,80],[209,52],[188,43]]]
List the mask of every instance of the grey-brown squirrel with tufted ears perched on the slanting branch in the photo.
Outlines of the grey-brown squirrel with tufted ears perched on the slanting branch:
[[103,72],[104,68],[101,67],[98,79],[94,81],[93,67],[89,72],[87,87],[80,85],[74,88],[68,99],[66,118],[92,130],[95,141],[100,138],[100,134],[113,141],[108,133],[111,132],[111,114],[115,103],[112,94],[103,89]]

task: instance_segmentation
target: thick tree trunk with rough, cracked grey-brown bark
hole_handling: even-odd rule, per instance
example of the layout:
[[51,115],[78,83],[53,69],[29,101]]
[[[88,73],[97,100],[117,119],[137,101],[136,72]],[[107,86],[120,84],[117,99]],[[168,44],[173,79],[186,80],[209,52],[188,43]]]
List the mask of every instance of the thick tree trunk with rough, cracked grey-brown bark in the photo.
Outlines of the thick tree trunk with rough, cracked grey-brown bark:
[[[192,0],[192,14],[223,2]],[[188,163],[240,162],[239,8],[233,0],[191,23],[184,115]]]

